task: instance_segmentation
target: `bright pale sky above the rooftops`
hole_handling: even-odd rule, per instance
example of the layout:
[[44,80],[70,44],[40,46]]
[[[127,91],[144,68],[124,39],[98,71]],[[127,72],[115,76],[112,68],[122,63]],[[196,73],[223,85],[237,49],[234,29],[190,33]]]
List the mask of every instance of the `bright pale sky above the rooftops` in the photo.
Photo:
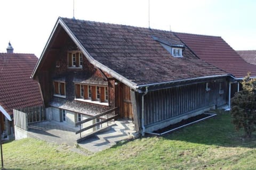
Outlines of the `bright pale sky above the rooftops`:
[[[74,1],[74,5],[73,5]],[[254,0],[0,0],[0,53],[38,58],[59,16],[222,37],[256,50]]]

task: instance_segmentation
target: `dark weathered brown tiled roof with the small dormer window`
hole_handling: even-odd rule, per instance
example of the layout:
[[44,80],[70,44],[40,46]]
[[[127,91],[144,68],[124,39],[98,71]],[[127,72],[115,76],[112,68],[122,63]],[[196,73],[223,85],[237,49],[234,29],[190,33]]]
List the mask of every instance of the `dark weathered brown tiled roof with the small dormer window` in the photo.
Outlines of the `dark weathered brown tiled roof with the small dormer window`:
[[67,18],[61,20],[94,60],[138,85],[226,74],[199,60],[187,47],[182,58],[171,56],[153,39],[157,37],[169,44],[183,45],[170,31]]

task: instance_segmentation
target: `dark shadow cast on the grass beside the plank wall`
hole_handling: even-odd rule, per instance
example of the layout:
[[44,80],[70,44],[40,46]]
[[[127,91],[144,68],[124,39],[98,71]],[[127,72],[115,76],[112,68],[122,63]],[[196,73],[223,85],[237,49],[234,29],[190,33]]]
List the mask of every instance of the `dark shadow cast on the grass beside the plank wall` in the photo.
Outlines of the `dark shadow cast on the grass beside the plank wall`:
[[243,130],[236,131],[231,121],[229,112],[218,113],[213,118],[163,135],[163,138],[222,147],[256,148],[256,134],[253,133],[251,139],[244,139]]

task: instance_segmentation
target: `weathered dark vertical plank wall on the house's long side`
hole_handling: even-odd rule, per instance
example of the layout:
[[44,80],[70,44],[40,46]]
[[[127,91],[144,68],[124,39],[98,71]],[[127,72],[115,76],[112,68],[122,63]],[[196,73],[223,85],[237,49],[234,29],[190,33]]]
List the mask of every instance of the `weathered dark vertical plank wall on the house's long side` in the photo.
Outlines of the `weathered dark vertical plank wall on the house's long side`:
[[[223,83],[223,94],[219,94],[220,82]],[[148,92],[145,96],[145,125],[179,116],[202,107],[227,104],[227,81],[215,80],[208,83],[211,88],[210,91],[205,90],[206,82],[204,82]]]

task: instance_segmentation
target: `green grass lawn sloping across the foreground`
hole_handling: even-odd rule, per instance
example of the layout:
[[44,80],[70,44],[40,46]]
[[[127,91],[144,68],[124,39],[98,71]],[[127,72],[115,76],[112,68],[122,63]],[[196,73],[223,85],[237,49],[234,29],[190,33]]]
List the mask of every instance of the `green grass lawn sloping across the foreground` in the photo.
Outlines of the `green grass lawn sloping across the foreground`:
[[6,169],[256,169],[255,133],[244,140],[229,113],[87,156],[36,139],[5,143],[3,152]]

